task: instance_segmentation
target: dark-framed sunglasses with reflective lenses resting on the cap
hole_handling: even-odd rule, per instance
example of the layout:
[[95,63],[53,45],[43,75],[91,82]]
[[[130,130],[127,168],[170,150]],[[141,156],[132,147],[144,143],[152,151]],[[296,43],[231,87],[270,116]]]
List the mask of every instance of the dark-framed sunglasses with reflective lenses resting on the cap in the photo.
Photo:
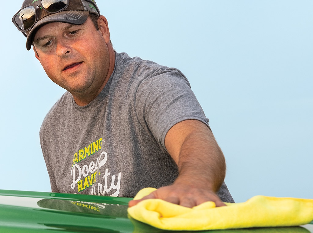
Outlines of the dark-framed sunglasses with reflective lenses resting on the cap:
[[16,13],[12,22],[15,26],[23,32],[27,32],[32,29],[33,26],[37,23],[38,12],[37,9],[44,9],[50,14],[58,13],[66,9],[69,5],[69,0],[41,0],[34,1],[32,4],[29,4]]

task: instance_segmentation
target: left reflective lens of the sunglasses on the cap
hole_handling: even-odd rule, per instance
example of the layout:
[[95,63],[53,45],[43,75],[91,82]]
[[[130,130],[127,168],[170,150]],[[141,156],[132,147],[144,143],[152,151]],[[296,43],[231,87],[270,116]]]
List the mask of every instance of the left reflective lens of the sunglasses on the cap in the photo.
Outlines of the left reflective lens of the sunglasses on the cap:
[[33,6],[23,8],[15,16],[14,20],[21,30],[27,31],[35,23],[36,20],[35,8]]

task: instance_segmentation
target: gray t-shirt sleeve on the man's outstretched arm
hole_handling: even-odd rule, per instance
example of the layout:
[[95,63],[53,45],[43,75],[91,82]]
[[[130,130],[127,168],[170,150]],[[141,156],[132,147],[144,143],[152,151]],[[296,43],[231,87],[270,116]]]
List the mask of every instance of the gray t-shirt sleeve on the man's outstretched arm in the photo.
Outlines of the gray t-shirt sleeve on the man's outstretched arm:
[[158,71],[146,78],[137,90],[135,106],[141,125],[164,149],[168,130],[178,122],[195,119],[209,127],[188,80],[177,69]]

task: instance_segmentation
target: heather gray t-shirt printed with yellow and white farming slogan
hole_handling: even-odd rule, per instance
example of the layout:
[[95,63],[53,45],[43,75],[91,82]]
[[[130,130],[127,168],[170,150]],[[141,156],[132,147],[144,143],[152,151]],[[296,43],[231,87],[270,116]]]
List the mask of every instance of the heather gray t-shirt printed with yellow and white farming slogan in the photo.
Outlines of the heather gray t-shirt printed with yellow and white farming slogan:
[[[40,142],[52,191],[134,197],[172,184],[178,170],[164,139],[187,119],[208,125],[179,70],[116,53],[99,96],[78,106],[65,92],[44,119]],[[232,201],[225,184],[219,195]]]

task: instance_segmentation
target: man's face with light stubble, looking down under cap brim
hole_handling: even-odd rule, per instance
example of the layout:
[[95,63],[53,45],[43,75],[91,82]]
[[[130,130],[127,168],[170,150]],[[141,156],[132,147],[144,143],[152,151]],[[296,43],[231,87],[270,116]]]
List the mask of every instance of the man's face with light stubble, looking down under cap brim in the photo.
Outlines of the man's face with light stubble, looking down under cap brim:
[[104,24],[96,31],[90,18],[82,25],[48,23],[34,36],[35,54],[47,75],[74,98],[98,95],[109,78],[110,34]]

